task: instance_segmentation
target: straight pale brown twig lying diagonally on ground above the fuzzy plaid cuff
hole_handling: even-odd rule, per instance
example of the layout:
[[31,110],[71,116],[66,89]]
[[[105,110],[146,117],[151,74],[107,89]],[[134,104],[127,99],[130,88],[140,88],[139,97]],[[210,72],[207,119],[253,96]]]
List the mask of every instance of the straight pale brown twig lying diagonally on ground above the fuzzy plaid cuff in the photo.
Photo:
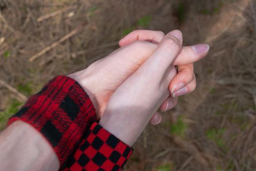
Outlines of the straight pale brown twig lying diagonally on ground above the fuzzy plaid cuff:
[[72,37],[73,35],[75,35],[80,29],[74,29],[73,31],[71,31],[69,34],[67,34],[66,36],[64,36],[63,38],[61,38],[60,40],[58,40],[57,42],[52,43],[51,45],[47,46],[46,48],[44,48],[43,50],[41,50],[39,53],[35,54],[34,56],[30,57],[28,62],[33,62],[35,61],[37,58],[39,58],[40,56],[42,56],[43,54],[45,54],[46,52],[48,52],[49,50],[53,49],[54,47],[56,47],[58,44],[66,41],[67,39],[69,39],[70,37]]

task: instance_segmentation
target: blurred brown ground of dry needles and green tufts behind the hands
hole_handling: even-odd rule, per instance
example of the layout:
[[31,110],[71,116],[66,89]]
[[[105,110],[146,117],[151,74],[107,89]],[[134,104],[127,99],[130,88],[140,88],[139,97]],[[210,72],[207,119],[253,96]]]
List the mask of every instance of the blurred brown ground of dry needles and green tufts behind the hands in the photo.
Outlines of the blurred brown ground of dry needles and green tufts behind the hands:
[[255,0],[0,0],[0,129],[26,98],[134,29],[209,43],[196,90],[148,126],[124,171],[256,171]]

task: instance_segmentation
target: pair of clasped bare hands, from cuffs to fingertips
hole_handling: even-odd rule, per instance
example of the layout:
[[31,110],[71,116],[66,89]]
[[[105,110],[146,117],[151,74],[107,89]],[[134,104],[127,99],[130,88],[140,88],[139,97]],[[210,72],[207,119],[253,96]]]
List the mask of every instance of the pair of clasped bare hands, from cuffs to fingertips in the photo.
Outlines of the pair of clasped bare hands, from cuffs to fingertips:
[[[68,75],[89,94],[102,125],[133,145],[151,122],[161,122],[177,97],[195,89],[193,63],[205,57],[208,44],[182,46],[179,30],[136,30],[119,41],[119,49]],[[174,65],[178,65],[178,73]]]

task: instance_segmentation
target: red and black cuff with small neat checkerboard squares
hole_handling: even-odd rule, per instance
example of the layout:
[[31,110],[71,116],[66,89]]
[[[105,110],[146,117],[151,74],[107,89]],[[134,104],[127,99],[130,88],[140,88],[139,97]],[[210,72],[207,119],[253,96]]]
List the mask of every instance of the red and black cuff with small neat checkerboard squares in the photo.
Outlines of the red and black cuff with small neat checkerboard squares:
[[132,151],[94,122],[64,171],[120,171]]

